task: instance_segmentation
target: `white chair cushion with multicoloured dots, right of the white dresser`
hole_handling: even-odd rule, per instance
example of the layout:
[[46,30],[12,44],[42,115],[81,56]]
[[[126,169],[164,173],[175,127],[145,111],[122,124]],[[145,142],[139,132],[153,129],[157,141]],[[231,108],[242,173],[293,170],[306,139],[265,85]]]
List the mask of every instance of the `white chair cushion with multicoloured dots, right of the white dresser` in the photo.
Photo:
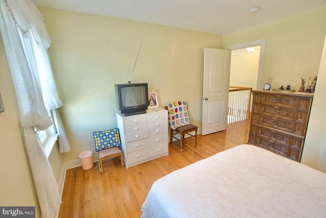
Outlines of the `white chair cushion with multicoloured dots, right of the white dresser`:
[[169,112],[169,127],[175,130],[178,127],[191,124],[189,114],[187,111],[187,103],[185,102],[171,102],[165,106]]

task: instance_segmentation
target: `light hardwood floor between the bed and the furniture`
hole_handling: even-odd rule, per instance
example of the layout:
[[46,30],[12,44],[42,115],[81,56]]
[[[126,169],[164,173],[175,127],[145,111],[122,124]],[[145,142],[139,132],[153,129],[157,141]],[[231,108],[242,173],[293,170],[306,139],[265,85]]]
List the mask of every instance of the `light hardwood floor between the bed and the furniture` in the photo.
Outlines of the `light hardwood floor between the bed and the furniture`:
[[[230,124],[227,130],[198,135],[180,144],[169,145],[169,155],[136,166],[121,167],[117,158],[98,168],[84,171],[82,167],[68,169],[59,217],[140,217],[141,207],[153,182],[157,179],[221,151],[247,143],[249,120]],[[97,163],[94,163],[94,165]]]

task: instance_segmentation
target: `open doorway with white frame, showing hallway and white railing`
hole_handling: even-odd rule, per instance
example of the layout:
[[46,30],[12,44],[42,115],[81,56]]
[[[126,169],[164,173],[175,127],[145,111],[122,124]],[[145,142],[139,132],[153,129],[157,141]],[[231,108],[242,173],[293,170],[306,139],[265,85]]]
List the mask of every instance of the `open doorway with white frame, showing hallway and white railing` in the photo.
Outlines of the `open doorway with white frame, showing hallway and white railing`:
[[228,124],[250,118],[251,89],[261,88],[265,40],[226,47],[231,50]]

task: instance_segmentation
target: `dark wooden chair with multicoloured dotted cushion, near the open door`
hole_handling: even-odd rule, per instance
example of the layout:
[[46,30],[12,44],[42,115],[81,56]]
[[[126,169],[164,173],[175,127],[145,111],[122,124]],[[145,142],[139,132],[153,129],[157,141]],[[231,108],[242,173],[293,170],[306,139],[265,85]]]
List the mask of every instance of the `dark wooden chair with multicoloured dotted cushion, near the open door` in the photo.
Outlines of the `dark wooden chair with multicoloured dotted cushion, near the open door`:
[[[171,128],[170,143],[172,143],[172,138],[180,140],[180,152],[182,152],[182,144],[185,134],[195,137],[195,147],[197,147],[198,127],[190,123],[187,108],[187,103],[182,101],[171,102],[165,106],[165,109],[168,110],[169,113],[169,127]],[[193,131],[195,131],[194,135],[189,134]],[[174,136],[177,134],[180,135],[180,139]]]

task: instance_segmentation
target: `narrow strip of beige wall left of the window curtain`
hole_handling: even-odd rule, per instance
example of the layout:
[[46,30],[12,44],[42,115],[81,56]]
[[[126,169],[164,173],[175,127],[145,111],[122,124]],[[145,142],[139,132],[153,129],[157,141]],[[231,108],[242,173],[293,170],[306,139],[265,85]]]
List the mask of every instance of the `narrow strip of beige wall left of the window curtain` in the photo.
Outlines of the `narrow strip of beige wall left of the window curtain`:
[[19,109],[1,37],[0,50],[0,93],[5,106],[5,111],[0,113],[0,205],[36,206],[36,217],[41,217],[20,135]]

